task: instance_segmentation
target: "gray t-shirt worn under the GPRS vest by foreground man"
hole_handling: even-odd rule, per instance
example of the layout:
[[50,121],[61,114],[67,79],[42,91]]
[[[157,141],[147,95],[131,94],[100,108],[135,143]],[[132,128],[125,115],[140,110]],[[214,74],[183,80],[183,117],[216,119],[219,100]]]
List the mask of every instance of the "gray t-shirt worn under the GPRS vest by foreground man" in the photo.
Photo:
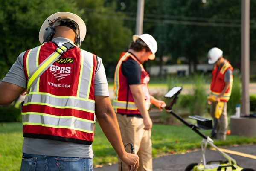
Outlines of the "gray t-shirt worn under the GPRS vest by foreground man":
[[[54,38],[52,41],[55,43],[66,43],[70,41],[66,38]],[[81,49],[82,50],[82,49]],[[23,67],[23,56],[21,53],[17,61],[12,65],[12,68],[3,78],[3,82],[9,82],[20,87],[26,88],[26,77]],[[97,58],[98,64],[94,78],[94,95],[95,96],[109,96],[108,82],[105,74],[105,69],[102,64],[102,59]],[[93,157],[92,145],[83,145],[73,142],[62,142],[49,139],[35,139],[24,137],[23,153],[59,156],[59,157]]]

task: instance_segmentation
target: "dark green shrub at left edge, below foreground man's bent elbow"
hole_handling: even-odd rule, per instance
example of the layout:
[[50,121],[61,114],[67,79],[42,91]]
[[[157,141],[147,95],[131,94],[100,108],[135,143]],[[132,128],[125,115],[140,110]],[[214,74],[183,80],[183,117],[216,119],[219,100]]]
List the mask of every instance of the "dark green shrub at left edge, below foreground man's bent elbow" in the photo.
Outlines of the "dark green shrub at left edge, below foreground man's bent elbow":
[[21,122],[20,109],[13,106],[0,106],[0,122]]

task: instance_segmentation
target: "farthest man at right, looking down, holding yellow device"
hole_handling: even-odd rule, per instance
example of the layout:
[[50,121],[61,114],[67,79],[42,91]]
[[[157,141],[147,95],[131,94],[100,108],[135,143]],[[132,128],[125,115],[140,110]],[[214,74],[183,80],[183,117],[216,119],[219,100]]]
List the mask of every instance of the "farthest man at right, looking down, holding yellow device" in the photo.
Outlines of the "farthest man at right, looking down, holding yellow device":
[[208,52],[208,63],[214,64],[208,104],[211,104],[211,116],[214,128],[211,136],[226,139],[227,134],[227,101],[230,99],[233,84],[233,67],[223,58],[221,49],[214,47]]

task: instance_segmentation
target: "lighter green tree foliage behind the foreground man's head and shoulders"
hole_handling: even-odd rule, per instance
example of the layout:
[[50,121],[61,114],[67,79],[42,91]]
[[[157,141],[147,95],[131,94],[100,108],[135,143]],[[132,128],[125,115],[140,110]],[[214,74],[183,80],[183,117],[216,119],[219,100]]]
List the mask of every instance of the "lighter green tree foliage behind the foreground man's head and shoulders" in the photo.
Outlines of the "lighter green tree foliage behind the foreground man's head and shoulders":
[[124,14],[115,12],[115,8],[115,3],[104,6],[104,0],[1,0],[0,78],[21,52],[40,44],[41,24],[50,14],[61,11],[78,14],[84,19],[87,35],[81,48],[102,57],[106,68],[111,69],[108,66],[116,65],[120,53],[131,41],[131,31],[123,27],[123,21],[105,14],[112,11],[111,16],[122,17]]

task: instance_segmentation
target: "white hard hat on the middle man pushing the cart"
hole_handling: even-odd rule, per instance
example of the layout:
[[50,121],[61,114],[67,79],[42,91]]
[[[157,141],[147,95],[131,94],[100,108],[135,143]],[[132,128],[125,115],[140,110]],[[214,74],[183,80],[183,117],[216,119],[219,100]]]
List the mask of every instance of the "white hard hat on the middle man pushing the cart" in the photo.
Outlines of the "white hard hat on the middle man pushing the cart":
[[157,41],[153,38],[153,36],[151,36],[149,34],[133,35],[132,36],[132,39],[134,42],[138,38],[143,40],[146,43],[146,45],[149,47],[149,49],[151,50],[153,55],[149,56],[148,58],[153,60],[156,57],[155,53],[157,52]]

